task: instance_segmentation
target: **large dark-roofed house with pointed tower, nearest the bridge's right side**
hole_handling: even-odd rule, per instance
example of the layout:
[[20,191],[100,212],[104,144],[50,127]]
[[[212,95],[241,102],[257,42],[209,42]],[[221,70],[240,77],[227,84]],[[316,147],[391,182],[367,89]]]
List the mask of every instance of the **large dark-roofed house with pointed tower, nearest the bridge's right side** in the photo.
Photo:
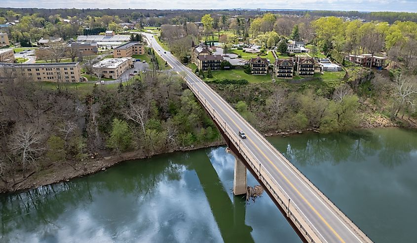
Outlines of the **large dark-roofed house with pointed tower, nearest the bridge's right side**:
[[219,70],[222,61],[222,55],[212,55],[207,45],[204,43],[195,45],[192,41],[191,63],[194,63],[198,70],[207,71],[209,67],[211,70]]

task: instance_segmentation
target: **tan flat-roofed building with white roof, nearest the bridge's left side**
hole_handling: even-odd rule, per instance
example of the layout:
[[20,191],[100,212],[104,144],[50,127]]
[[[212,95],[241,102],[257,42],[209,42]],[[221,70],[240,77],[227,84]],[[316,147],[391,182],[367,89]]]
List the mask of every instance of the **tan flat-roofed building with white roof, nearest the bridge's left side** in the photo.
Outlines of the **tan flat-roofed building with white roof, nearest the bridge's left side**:
[[119,78],[123,72],[133,67],[133,59],[131,57],[106,58],[93,65],[93,68],[101,69],[104,77],[112,79]]

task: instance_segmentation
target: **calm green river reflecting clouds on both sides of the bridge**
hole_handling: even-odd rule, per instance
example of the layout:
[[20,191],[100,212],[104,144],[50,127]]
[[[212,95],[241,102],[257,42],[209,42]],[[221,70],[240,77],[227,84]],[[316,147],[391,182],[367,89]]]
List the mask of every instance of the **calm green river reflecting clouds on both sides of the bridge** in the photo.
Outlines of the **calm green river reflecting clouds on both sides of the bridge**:
[[[416,242],[416,132],[268,140],[374,242]],[[233,166],[225,147],[212,147],[2,194],[0,242],[301,242],[265,193],[233,197]],[[252,175],[248,184],[257,184]]]

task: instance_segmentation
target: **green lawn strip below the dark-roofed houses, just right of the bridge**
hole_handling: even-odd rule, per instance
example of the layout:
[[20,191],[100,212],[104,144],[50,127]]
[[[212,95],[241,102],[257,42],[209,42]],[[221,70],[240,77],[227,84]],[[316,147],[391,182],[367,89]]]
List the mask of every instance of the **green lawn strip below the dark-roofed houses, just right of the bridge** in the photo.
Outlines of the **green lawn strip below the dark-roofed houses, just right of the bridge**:
[[[212,78],[204,78],[204,80],[210,81],[215,79],[246,79],[250,83],[260,83],[260,82],[272,82],[271,74],[268,73],[267,75],[251,75],[245,73],[243,70],[219,70],[219,71],[212,71],[213,74]],[[207,76],[207,73],[205,73]]]

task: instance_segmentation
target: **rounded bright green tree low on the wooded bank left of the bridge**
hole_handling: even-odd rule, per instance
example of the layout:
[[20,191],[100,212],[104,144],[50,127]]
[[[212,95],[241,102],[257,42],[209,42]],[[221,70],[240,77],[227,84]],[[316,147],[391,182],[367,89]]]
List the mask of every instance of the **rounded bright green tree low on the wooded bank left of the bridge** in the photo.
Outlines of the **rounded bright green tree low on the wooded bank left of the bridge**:
[[132,131],[124,120],[113,119],[112,132],[107,146],[116,151],[125,151],[132,144]]

